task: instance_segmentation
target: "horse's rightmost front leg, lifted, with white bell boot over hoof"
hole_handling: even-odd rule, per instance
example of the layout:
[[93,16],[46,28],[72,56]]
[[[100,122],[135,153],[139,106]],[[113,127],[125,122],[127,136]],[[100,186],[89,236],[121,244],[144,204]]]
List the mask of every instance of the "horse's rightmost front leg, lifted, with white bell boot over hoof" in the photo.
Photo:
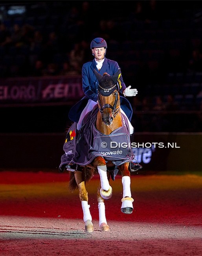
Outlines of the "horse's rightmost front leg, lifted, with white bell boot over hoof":
[[122,184],[123,184],[123,198],[121,199],[121,211],[126,214],[132,213],[133,206],[132,202],[134,199],[131,197],[130,190],[130,171],[129,171],[129,163],[124,163],[123,165],[119,165],[119,170],[122,176]]

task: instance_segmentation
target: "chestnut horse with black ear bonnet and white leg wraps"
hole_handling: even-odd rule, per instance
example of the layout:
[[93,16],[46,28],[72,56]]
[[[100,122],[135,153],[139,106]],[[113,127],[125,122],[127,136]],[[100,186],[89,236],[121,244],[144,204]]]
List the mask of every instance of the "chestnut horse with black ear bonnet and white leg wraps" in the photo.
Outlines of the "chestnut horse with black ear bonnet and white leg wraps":
[[[109,76],[107,73],[101,76],[95,71],[95,75],[99,82],[98,89],[98,108],[97,117],[95,121],[95,128],[99,134],[109,135],[112,134],[118,128],[123,126],[123,113],[120,108],[119,98],[119,83],[117,82],[120,71]],[[107,96],[106,96],[107,95]],[[126,126],[126,125],[125,125]],[[109,137],[107,136],[107,137]],[[130,137],[130,135],[129,135]],[[128,138],[128,141],[130,139]],[[131,148],[129,148],[129,151]],[[132,151],[131,151],[132,152]],[[130,155],[128,160],[121,161],[118,166],[118,170],[122,176],[123,184],[123,198],[121,199],[121,211],[126,214],[132,213],[134,201],[131,197],[130,191],[130,171],[129,164],[134,158],[133,154]],[[71,165],[69,165],[70,167]],[[94,231],[92,224],[92,216],[90,214],[88,205],[88,192],[86,191],[85,182],[90,180],[95,170],[100,175],[100,185],[97,190],[97,202],[99,208],[99,226],[101,231],[108,231],[110,228],[107,224],[105,217],[105,199],[112,197],[112,187],[109,184],[111,173],[108,171],[113,169],[114,162],[109,158],[106,159],[105,155],[96,156],[93,161],[87,166],[78,166],[77,170],[70,172],[70,189],[74,190],[79,188],[79,197],[83,208],[83,219],[85,222],[85,232],[92,233]],[[68,169],[73,171],[73,169]],[[87,178],[86,178],[87,177]]]

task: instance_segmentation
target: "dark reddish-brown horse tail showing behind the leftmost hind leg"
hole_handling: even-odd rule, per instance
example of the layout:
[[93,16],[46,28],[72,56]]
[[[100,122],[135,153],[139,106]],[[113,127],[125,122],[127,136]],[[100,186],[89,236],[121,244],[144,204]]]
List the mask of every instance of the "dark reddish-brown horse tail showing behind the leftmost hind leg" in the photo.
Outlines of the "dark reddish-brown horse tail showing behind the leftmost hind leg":
[[[87,167],[87,166],[84,166],[84,167],[82,167],[81,171],[83,173],[83,180],[86,184],[93,177],[94,169],[90,168],[90,167]],[[75,180],[74,173],[70,172],[69,190],[74,191],[76,189],[78,189],[78,186],[77,186],[77,182]]]

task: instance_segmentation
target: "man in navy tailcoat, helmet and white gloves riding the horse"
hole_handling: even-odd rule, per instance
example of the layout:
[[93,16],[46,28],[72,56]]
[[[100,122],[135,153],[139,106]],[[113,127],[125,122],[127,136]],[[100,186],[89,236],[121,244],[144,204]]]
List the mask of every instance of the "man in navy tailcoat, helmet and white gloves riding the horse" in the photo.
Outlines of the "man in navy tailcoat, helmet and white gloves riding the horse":
[[[85,96],[75,106],[73,106],[69,113],[70,120],[77,123],[77,131],[81,129],[86,114],[92,111],[94,106],[97,105],[99,82],[97,80],[94,70],[98,72],[101,76],[103,76],[104,73],[113,76],[120,69],[116,61],[105,58],[105,54],[107,52],[107,43],[103,38],[98,37],[93,39],[90,44],[90,48],[95,58],[92,61],[85,63],[82,67],[82,86]],[[132,134],[134,133],[134,128],[130,123],[132,118],[132,107],[130,105],[130,102],[125,97],[136,96],[138,91],[137,89],[130,89],[131,86],[126,87],[121,74],[118,76],[118,86],[119,93],[122,93],[124,95],[120,96],[121,113],[128,121],[130,135],[132,137]],[[68,169],[69,166],[66,167],[64,155],[59,170],[62,172],[65,168]],[[76,165],[73,164],[69,169],[73,170],[75,168]],[[141,169],[141,165],[131,162],[130,169],[131,171],[136,171],[138,169]]]

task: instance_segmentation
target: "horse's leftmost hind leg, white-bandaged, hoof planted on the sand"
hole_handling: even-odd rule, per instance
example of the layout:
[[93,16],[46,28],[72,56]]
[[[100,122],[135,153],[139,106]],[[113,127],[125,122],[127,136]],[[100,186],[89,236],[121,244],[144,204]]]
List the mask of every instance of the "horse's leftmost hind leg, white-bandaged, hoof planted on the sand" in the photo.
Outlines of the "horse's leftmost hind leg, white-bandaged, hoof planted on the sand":
[[85,223],[85,232],[92,233],[94,231],[92,216],[90,214],[90,205],[88,205],[88,192],[83,179],[83,173],[80,171],[75,172],[75,180],[79,187],[79,198],[81,200],[81,206],[83,209],[83,220]]

